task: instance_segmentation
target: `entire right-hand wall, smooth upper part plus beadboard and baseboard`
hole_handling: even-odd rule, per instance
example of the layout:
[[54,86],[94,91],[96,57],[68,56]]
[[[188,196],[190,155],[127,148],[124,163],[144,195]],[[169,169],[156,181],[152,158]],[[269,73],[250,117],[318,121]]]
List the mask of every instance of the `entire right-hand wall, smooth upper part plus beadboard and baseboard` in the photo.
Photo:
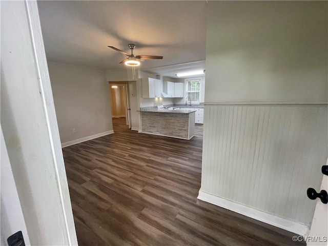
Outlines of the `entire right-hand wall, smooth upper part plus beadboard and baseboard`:
[[308,232],[306,189],[328,155],[327,27],[327,2],[209,2],[200,199]]

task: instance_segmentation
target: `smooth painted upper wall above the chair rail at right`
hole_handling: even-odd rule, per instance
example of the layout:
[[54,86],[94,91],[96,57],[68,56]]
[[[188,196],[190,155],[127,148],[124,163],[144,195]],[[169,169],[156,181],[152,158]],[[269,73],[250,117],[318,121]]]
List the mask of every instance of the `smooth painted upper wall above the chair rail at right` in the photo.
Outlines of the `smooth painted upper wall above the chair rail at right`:
[[327,2],[208,4],[206,92],[216,101],[327,101]]

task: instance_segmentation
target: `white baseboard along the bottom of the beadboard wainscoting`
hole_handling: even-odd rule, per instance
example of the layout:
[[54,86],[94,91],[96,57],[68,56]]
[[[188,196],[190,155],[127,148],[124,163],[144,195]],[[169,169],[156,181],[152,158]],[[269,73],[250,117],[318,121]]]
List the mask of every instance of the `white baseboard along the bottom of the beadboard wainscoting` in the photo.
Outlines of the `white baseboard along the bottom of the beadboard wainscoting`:
[[197,198],[202,201],[207,201],[224,209],[228,209],[238,214],[251,217],[253,219],[262,221],[267,224],[271,224],[272,226],[281,228],[289,232],[296,233],[301,236],[305,236],[309,234],[309,227],[305,226],[305,224],[301,224],[289,219],[281,218],[273,214],[265,213],[263,211],[209,194],[207,192],[203,192],[199,190]]

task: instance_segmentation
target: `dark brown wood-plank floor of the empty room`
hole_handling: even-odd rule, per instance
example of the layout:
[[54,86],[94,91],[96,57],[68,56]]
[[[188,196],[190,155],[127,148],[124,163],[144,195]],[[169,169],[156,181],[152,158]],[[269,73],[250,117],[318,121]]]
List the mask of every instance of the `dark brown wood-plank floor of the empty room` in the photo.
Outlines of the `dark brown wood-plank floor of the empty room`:
[[63,149],[79,245],[305,245],[197,200],[202,126],[191,140],[114,134]]

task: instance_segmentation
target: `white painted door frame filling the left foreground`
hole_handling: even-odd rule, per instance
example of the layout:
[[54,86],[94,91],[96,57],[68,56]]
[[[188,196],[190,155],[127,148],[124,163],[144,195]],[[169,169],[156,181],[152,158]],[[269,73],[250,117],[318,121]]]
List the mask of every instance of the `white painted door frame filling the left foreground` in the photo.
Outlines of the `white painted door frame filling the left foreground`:
[[0,4],[1,127],[29,239],[77,245],[36,1]]

